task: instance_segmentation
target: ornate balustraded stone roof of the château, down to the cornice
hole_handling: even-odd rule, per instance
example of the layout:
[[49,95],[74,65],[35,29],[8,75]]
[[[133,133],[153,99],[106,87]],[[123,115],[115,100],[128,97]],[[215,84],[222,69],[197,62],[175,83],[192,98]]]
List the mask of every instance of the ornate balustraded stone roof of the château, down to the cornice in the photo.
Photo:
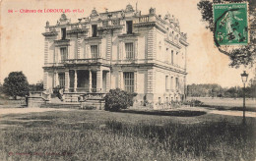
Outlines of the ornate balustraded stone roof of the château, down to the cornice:
[[[142,15],[141,11],[134,10],[132,5],[128,4],[124,10],[108,12],[105,9],[104,13],[98,13],[96,8],[91,12],[91,15],[86,18],[78,19],[77,23],[71,23],[71,20],[63,13],[61,18],[57,21],[55,26],[50,26],[49,22],[46,22],[46,32],[42,33],[44,36],[56,35],[55,27],[70,26],[69,32],[83,32],[88,30],[87,24],[98,24],[98,29],[115,29],[121,28],[122,20],[133,20],[134,27],[148,27],[156,26],[163,32],[170,32],[174,30],[175,33],[180,35],[180,41],[186,43],[187,35],[180,31],[179,21],[169,13],[165,14],[162,18],[156,14],[156,9],[151,8],[149,14]],[[173,32],[172,32],[173,33]],[[169,33],[171,34],[171,32]]]

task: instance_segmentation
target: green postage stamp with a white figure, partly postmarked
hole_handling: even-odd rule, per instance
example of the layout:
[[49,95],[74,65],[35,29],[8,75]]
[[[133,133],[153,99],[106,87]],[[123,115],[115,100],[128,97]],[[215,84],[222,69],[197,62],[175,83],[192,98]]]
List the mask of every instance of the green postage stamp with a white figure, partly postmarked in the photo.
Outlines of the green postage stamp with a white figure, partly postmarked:
[[213,8],[216,45],[248,44],[247,3],[214,4]]

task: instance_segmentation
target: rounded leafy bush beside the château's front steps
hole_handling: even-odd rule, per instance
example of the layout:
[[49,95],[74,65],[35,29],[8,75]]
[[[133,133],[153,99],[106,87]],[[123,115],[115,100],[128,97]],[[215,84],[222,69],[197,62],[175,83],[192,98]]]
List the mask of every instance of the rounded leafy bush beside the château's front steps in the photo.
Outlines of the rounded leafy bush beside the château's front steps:
[[137,93],[129,93],[119,88],[110,89],[105,95],[105,110],[118,111],[133,105],[133,97]]

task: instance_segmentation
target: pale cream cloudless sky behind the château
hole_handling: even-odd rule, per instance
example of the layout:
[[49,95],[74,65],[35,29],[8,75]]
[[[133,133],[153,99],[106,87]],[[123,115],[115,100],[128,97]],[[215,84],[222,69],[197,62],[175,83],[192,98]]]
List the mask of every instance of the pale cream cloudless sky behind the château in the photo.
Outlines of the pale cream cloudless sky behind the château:
[[[61,13],[44,13],[44,9],[79,9],[81,13],[66,13],[72,23],[88,17],[94,7],[97,12],[125,9],[131,4],[134,9],[148,14],[151,7],[157,15],[168,12],[179,20],[180,29],[186,32],[187,48],[187,83],[219,83],[222,86],[242,85],[240,74],[244,68],[230,68],[228,57],[214,45],[213,33],[205,28],[197,9],[199,0],[2,0],[0,13],[0,82],[10,72],[23,71],[30,83],[36,83],[43,77],[43,49],[46,21],[56,25]],[[22,13],[22,10],[36,10],[36,13]],[[13,13],[8,13],[13,10]],[[37,13],[42,10],[42,13]],[[17,11],[17,12],[15,12]]]

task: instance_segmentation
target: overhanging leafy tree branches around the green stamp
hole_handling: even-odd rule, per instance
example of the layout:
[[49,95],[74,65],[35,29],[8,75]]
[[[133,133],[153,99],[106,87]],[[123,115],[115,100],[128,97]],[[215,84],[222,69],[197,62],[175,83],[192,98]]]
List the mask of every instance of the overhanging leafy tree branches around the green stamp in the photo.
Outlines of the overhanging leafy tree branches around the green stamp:
[[[214,19],[213,19],[213,3],[221,2],[244,2],[242,0],[201,0],[197,7],[201,11],[203,22],[206,22],[206,28],[209,28],[214,32]],[[250,31],[250,43],[246,46],[240,46],[237,48],[232,48],[228,46],[218,46],[220,52],[229,56],[230,64],[229,66],[239,68],[241,65],[245,67],[252,67],[256,60],[256,2],[255,0],[248,0],[249,2],[249,23],[251,29]]]

